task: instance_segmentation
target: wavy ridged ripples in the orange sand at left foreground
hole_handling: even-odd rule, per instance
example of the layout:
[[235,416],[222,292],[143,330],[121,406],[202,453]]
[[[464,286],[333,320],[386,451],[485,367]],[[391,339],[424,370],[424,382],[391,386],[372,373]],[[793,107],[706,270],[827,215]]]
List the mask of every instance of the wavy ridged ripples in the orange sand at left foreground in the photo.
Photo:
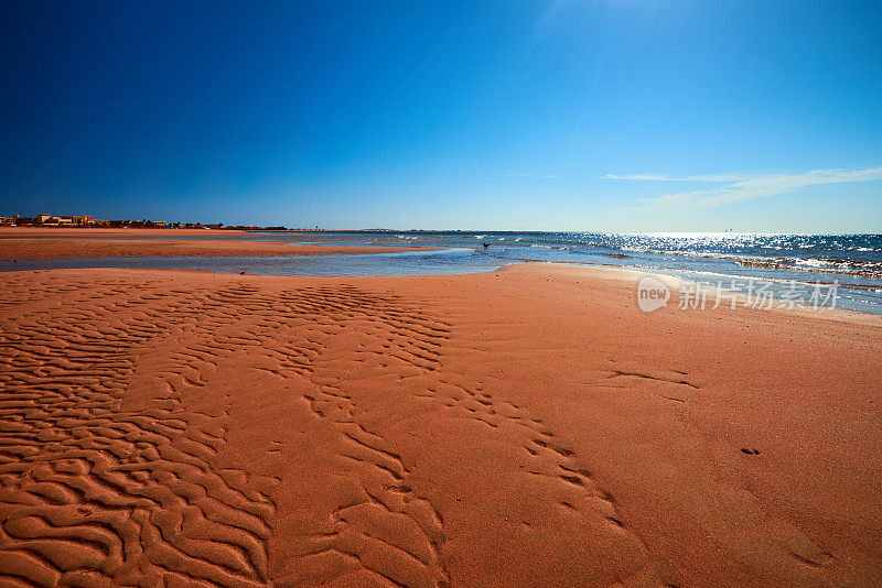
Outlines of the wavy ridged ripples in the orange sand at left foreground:
[[[227,421],[187,410],[182,393],[208,386],[243,349],[256,369],[313,378],[318,342],[273,336],[294,323],[357,316],[416,341],[392,349],[394,360],[419,371],[439,362],[438,333],[412,309],[348,286],[194,293],[166,282],[40,281],[4,277],[0,301],[0,579],[12,586],[269,585],[279,480],[223,466]],[[179,338],[157,363],[152,347]],[[163,394],[132,407],[144,358]],[[315,414],[340,427],[352,459],[388,480],[334,513],[336,531],[313,553],[345,553],[396,584],[447,584],[439,514],[413,496],[397,454],[356,422],[352,402],[333,382],[315,383]],[[377,558],[365,531],[378,522],[410,525],[424,548],[397,548],[401,562],[387,570],[388,554]]]

